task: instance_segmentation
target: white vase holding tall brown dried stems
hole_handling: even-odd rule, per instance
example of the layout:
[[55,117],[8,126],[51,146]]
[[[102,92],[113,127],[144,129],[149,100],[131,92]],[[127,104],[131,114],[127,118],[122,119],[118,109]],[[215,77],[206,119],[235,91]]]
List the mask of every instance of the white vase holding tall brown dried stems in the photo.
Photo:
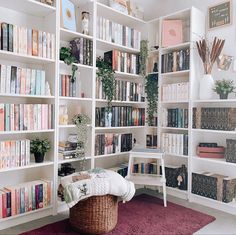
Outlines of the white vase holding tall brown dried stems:
[[212,68],[224,47],[225,40],[215,37],[213,43],[207,42],[206,39],[196,43],[204,67],[204,76],[200,79],[199,98],[207,100],[211,99],[213,95],[214,80],[211,75]]

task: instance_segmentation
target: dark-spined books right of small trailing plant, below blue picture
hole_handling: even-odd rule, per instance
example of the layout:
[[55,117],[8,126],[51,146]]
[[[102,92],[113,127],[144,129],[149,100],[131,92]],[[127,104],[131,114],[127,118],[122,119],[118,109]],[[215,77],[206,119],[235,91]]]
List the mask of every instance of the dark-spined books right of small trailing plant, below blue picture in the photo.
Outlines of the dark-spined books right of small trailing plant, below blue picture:
[[70,41],[71,53],[76,62],[84,65],[93,65],[93,41],[87,38],[75,38]]

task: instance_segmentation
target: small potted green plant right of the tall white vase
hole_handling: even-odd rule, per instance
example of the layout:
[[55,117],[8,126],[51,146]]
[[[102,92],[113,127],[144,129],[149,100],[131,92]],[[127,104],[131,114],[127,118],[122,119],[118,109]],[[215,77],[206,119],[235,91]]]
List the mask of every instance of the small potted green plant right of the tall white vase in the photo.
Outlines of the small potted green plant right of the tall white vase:
[[228,99],[228,95],[233,93],[235,88],[233,80],[222,79],[215,82],[213,90],[220,96],[220,99]]

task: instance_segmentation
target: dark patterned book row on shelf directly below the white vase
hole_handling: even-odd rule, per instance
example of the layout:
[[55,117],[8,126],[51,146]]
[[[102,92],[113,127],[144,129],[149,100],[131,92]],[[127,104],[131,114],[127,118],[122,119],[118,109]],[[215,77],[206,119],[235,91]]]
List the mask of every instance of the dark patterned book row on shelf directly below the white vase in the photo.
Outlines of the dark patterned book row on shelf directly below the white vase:
[[235,131],[236,108],[193,108],[193,128]]

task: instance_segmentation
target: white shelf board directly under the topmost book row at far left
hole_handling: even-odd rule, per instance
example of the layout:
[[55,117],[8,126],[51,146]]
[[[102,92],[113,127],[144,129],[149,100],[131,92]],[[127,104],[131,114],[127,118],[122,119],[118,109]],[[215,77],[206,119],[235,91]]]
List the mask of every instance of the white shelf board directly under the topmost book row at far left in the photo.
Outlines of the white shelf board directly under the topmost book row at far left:
[[32,55],[23,55],[18,54],[10,51],[3,51],[0,50],[0,57],[2,60],[9,60],[9,61],[16,61],[21,63],[27,63],[27,64],[51,64],[55,63],[55,60],[38,57],[38,56],[32,56]]

